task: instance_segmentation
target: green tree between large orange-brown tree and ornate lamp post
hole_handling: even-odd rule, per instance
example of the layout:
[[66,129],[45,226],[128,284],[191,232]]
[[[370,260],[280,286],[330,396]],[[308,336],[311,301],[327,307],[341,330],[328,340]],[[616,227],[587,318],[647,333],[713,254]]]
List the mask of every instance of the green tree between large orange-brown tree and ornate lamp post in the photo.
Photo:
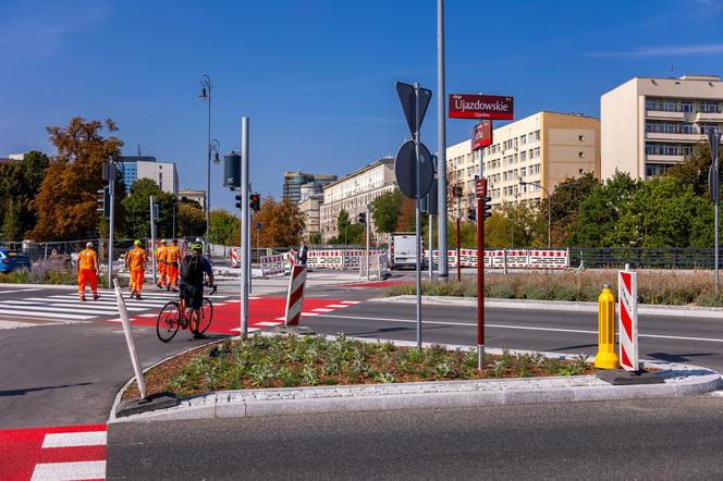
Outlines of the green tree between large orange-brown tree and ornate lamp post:
[[[125,212],[123,233],[127,237],[143,238],[150,236],[150,196],[156,197],[156,203],[159,206],[159,217],[156,221],[158,237],[171,237],[173,235],[173,208],[177,203],[175,196],[162,192],[158,184],[150,178],[138,178],[133,183],[131,194],[121,203]],[[185,222],[188,218],[183,217],[187,213],[193,218],[195,212],[182,212],[182,206],[184,205],[179,206],[176,212],[179,233],[188,236],[205,234],[206,218],[204,217],[204,212],[200,212],[200,215],[204,218],[204,229],[198,233],[195,229],[196,225],[192,222]],[[193,208],[189,207],[188,209]],[[188,232],[192,230],[194,232],[186,233],[184,227]]]

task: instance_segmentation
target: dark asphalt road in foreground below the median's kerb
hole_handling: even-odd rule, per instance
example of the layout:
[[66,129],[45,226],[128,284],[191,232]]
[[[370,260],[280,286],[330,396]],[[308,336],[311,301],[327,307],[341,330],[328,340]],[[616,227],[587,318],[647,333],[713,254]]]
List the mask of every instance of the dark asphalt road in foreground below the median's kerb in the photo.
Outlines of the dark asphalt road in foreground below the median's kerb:
[[720,479],[723,397],[112,424],[107,479]]

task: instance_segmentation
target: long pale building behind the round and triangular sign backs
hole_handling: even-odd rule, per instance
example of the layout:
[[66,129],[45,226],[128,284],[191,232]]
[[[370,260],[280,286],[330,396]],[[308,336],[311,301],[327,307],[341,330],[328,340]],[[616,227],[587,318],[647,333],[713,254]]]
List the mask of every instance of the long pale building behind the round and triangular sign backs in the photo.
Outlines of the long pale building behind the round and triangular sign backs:
[[[358,214],[366,212],[368,203],[380,195],[394,190],[394,187],[396,178],[394,159],[391,157],[380,159],[324,186],[323,205],[320,209],[322,240],[339,234],[336,219],[342,209],[348,212],[352,223],[356,223]],[[370,227],[376,233],[373,220],[367,219],[367,222],[370,222]]]

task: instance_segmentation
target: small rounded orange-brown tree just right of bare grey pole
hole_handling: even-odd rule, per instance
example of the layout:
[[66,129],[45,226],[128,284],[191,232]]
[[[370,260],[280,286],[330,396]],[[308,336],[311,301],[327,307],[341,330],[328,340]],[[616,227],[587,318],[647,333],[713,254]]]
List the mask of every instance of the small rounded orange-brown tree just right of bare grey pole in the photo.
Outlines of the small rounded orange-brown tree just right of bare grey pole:
[[[259,244],[266,247],[297,246],[304,232],[305,214],[289,199],[277,202],[273,197],[261,200],[261,209],[254,214],[252,225],[261,223]],[[256,244],[257,231],[252,231]]]

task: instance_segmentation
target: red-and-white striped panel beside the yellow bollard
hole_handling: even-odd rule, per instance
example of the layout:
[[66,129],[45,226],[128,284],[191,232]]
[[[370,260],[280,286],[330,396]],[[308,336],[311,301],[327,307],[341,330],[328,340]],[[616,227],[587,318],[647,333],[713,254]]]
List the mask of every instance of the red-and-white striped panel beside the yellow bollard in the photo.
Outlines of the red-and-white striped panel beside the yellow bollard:
[[638,274],[617,272],[617,318],[620,365],[626,371],[638,371]]

